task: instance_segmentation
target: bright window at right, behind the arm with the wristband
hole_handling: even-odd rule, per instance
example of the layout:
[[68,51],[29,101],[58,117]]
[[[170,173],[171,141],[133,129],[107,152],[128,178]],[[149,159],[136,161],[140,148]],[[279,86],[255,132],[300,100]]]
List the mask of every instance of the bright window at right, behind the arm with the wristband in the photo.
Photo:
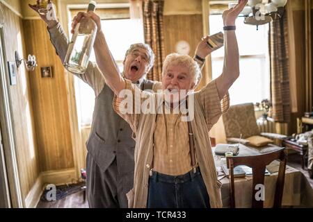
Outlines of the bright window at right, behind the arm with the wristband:
[[[268,24],[250,26],[236,19],[236,37],[240,54],[240,77],[230,87],[230,104],[256,103],[270,96],[270,65],[268,59]],[[223,27],[222,15],[209,16],[210,33],[218,33]],[[224,47],[214,51],[212,78],[223,71]]]

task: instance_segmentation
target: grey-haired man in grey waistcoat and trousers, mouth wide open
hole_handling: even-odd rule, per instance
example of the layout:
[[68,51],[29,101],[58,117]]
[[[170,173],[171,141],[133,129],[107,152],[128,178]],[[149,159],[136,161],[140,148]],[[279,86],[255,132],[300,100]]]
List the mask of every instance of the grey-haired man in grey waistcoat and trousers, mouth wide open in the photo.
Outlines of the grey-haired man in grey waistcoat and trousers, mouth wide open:
[[[36,12],[38,12],[40,1],[37,2],[37,5],[29,5]],[[51,18],[56,18],[54,7],[51,7],[49,15]],[[73,26],[79,22],[82,15],[83,13],[79,13],[77,17],[74,17]],[[56,53],[64,61],[68,47],[65,31],[56,19],[48,19],[45,15],[40,15],[40,17],[47,24],[51,43],[55,46]],[[97,22],[100,25],[99,20]],[[206,46],[206,40],[207,38],[204,38],[198,44],[196,51],[201,67],[203,65],[201,58],[205,58],[212,51]],[[107,51],[107,48],[100,50]],[[161,83],[145,79],[145,74],[154,63],[154,53],[149,45],[132,44],[125,54],[123,63],[122,76],[134,83],[136,87],[142,90],[155,90],[161,87]],[[90,207],[127,207],[126,194],[133,187],[134,181],[135,142],[131,138],[132,130],[129,124],[114,112],[112,105],[114,93],[103,77],[103,75],[115,74],[115,67],[115,72],[111,70],[111,66],[106,69],[105,65],[102,65],[100,70],[96,64],[89,62],[86,73],[76,75],[90,85],[95,92],[93,123],[86,143],[88,148],[86,185]]]

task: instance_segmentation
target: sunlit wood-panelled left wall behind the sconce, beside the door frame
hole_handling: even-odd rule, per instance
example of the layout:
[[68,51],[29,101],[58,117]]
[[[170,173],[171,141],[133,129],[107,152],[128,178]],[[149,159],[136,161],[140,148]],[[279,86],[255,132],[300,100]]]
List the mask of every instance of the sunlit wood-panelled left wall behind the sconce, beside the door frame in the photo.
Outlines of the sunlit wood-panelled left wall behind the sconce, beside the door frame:
[[[15,51],[18,51],[20,56],[25,57],[22,19],[5,6],[2,5],[2,8],[5,18],[4,41],[6,58],[8,61],[15,61]],[[25,71],[24,66],[17,70],[17,85],[10,86],[10,97],[13,109],[20,183],[25,198],[31,187],[33,187],[40,171],[32,121],[29,74]]]

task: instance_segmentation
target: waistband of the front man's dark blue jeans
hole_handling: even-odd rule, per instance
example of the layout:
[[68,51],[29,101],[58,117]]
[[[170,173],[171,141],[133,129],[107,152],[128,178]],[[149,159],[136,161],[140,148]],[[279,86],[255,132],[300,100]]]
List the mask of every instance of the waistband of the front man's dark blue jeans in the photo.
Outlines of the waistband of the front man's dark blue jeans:
[[167,182],[167,183],[184,183],[188,181],[192,181],[193,178],[200,175],[200,168],[196,167],[195,171],[193,169],[184,175],[179,176],[170,176],[163,173],[158,173],[157,171],[152,172],[152,176],[150,179],[154,182]]

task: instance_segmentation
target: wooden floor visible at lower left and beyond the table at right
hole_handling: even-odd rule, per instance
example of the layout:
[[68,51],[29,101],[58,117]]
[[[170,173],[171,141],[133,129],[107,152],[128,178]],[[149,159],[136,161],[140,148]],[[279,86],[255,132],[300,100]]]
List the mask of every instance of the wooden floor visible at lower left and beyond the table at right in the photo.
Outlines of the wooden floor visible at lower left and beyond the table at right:
[[[303,170],[300,164],[300,156],[297,154],[292,154],[288,156],[288,164],[301,171],[313,189],[313,179],[310,179],[307,170]],[[79,191],[75,194],[66,196],[65,198],[54,201],[54,202],[44,202],[40,201],[37,208],[88,208],[88,201],[83,202],[83,191]]]

